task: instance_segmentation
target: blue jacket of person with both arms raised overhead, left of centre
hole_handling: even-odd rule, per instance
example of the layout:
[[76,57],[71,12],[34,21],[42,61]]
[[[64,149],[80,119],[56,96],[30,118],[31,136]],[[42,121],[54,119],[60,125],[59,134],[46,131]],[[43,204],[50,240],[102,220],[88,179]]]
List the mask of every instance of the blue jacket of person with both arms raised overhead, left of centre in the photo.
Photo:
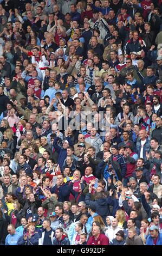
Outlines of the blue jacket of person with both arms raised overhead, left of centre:
[[[73,144],[72,144],[72,141],[71,141],[70,137],[67,137],[66,139],[67,139],[67,141],[69,142],[69,146],[70,146],[70,147],[73,147]],[[55,137],[55,138],[54,138],[54,144],[53,144],[53,146],[54,146],[54,148],[56,149],[57,153],[59,154],[59,158],[58,158],[57,163],[59,164],[59,166],[60,166],[60,168],[61,168],[61,171],[63,172],[63,162],[64,162],[64,160],[65,160],[66,157],[67,157],[67,150],[61,148],[61,147],[57,144],[58,141],[59,141],[59,137]]]

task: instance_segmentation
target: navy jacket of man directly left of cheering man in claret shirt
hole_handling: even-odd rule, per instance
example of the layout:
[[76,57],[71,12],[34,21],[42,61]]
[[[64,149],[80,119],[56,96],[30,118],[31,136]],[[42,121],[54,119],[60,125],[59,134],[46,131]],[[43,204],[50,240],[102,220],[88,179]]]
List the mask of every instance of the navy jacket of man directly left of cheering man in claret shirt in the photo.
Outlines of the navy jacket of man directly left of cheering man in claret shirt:
[[59,188],[57,185],[51,188],[51,193],[56,193],[59,197],[59,202],[64,202],[69,200],[70,190],[67,183],[63,183]]

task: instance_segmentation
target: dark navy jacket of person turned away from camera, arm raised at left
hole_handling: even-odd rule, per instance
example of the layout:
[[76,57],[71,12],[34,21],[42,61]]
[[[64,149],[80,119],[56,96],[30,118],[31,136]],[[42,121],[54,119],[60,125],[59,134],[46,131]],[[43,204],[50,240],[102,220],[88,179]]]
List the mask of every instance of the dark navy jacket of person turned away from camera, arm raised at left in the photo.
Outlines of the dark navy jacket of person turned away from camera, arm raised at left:
[[103,218],[106,224],[106,217],[109,215],[109,200],[108,198],[100,198],[95,201],[91,200],[91,194],[86,194],[85,203],[90,206],[95,206],[96,213]]

